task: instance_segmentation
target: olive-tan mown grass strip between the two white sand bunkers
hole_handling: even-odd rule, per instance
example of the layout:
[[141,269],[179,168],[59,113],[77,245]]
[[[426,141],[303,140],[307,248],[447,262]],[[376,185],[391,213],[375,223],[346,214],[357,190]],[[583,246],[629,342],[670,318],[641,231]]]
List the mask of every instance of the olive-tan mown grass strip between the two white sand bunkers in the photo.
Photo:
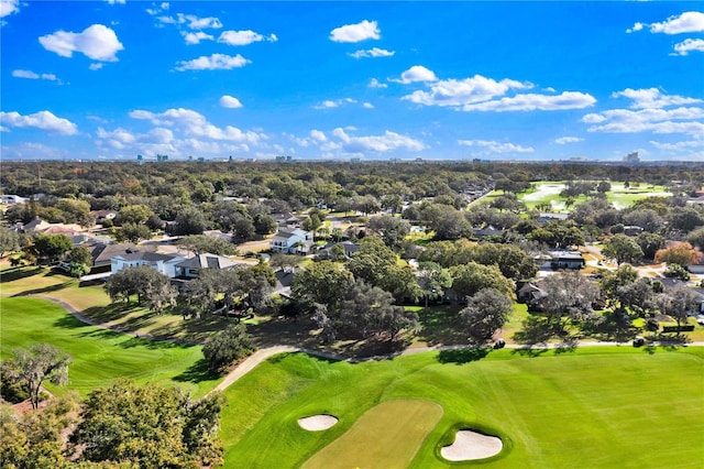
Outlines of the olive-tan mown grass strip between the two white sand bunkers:
[[435,402],[383,402],[302,468],[406,468],[440,417],[442,407]]

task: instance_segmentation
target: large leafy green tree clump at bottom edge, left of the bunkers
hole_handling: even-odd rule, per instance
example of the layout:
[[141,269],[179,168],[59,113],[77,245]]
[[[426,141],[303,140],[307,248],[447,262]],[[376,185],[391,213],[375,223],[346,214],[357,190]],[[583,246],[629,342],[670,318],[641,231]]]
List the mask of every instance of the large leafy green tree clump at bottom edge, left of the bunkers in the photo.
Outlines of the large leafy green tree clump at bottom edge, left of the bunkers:
[[200,468],[222,462],[217,436],[224,400],[193,401],[183,391],[120,379],[92,391],[70,436],[79,460],[142,468]]

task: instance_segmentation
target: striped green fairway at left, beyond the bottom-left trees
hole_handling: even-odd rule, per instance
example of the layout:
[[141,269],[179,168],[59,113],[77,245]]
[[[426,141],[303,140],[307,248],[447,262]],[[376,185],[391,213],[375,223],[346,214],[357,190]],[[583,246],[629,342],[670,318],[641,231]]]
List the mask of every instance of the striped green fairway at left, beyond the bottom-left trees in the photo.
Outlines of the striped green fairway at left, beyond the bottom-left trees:
[[35,342],[73,356],[67,388],[81,394],[118,377],[178,385],[194,395],[205,394],[218,381],[207,373],[201,346],[156,342],[88,326],[45,299],[0,297],[0,357]]

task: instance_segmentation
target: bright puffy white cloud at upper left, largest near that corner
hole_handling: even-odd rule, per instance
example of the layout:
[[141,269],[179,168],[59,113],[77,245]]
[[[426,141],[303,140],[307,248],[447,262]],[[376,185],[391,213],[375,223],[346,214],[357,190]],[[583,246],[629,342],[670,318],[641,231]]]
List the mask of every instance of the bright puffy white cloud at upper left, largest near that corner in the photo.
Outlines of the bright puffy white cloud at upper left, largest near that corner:
[[124,50],[114,31],[102,24],[90,25],[80,33],[57,31],[41,36],[40,43],[62,57],[70,57],[74,52],[80,52],[101,62],[117,62],[116,54]]

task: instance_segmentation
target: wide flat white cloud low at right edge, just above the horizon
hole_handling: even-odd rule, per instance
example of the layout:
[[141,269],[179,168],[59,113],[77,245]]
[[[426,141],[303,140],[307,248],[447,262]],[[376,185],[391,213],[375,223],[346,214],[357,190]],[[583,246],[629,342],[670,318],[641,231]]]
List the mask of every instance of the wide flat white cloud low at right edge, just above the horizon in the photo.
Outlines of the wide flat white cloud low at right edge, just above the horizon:
[[704,134],[704,109],[610,109],[600,113],[590,113],[582,118],[582,122],[592,123],[590,132],[608,133],[689,133]]

